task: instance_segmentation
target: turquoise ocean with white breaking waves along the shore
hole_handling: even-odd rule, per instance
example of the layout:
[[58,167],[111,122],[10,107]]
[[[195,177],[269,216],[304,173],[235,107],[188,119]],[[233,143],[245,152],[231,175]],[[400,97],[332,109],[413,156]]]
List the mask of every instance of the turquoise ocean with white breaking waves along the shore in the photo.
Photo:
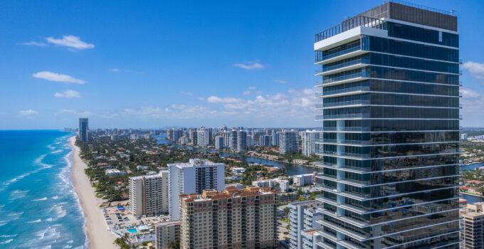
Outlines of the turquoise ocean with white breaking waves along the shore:
[[0,248],[88,248],[70,177],[73,135],[0,131]]

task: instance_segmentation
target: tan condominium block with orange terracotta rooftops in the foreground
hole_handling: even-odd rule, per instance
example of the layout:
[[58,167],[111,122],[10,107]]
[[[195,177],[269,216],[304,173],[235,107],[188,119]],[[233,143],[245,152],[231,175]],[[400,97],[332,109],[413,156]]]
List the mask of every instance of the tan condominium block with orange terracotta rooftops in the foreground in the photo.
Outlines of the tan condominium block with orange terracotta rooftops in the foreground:
[[278,248],[278,191],[229,186],[180,198],[180,248]]

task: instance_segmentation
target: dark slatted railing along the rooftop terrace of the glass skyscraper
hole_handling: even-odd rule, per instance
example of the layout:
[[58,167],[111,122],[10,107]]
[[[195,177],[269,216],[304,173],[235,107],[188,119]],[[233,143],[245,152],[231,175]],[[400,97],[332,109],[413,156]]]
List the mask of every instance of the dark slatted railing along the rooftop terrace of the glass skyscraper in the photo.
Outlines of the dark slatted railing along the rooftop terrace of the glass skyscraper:
[[382,21],[377,18],[372,18],[368,16],[354,16],[353,18],[349,18],[346,21],[334,26],[332,28],[328,28],[325,31],[317,33],[315,36],[315,43],[318,41],[325,40],[332,36],[336,36],[339,33],[343,33],[344,31],[349,31],[352,28],[356,28],[359,26],[367,26],[370,28],[378,28],[386,30],[386,21]]

